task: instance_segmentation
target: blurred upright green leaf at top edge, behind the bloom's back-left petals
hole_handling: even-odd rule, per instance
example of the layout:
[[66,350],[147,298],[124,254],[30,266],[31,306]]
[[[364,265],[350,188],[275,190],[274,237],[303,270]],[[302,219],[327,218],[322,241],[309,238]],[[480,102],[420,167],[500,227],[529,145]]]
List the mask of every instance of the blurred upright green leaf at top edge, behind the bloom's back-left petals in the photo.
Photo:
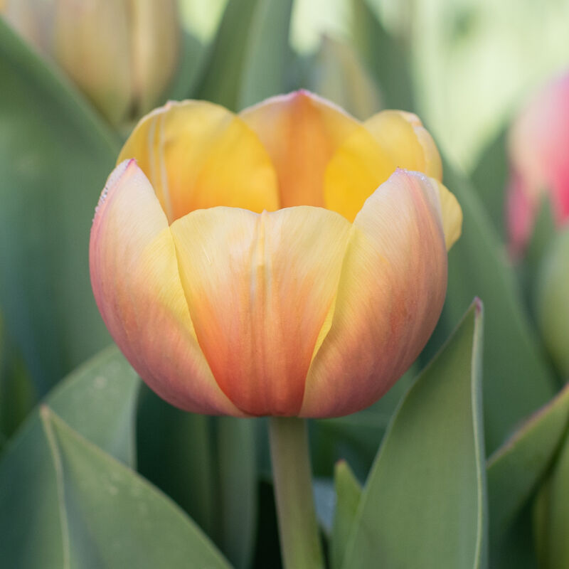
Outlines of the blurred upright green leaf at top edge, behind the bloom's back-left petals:
[[239,110],[285,90],[292,0],[230,0],[199,95]]

